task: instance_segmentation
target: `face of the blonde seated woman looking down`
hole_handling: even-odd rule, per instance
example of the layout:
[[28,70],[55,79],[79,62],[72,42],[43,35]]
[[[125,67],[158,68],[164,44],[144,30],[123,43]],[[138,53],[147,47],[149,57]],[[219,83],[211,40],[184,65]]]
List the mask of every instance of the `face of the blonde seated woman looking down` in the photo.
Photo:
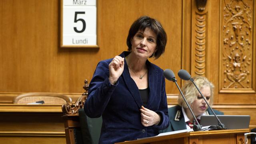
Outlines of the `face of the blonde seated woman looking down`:
[[[211,97],[210,86],[205,86],[200,91],[202,92],[203,96],[209,103],[210,97]],[[196,100],[194,100],[194,102],[192,102],[192,104],[191,104],[191,108],[192,108],[192,111],[194,112],[195,116],[197,117],[197,116],[203,114],[207,110],[208,105],[206,104],[206,102],[204,101],[202,96],[198,93]]]

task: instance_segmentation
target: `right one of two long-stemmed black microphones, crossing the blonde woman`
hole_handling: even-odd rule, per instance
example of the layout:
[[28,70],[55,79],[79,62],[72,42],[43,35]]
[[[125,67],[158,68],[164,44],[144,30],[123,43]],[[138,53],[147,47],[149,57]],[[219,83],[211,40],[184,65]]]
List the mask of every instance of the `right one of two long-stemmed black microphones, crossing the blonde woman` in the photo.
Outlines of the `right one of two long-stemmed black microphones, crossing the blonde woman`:
[[208,107],[210,108],[210,110],[212,111],[212,113],[214,114],[215,118],[218,120],[218,125],[217,126],[210,126],[209,128],[212,128],[212,130],[217,129],[217,130],[226,130],[227,128],[225,127],[224,124],[222,124],[220,122],[220,119],[218,118],[218,116],[216,116],[215,112],[212,110],[210,104],[207,102],[207,100],[205,99],[205,97],[203,96],[203,94],[201,93],[201,91],[199,90],[199,88],[196,86],[196,84],[194,83],[194,79],[191,78],[190,74],[186,71],[186,70],[179,70],[178,72],[178,76],[182,79],[182,80],[189,80],[191,81],[194,86],[196,87],[196,89],[198,90],[198,92],[200,93],[200,95],[202,96],[202,98],[204,99],[204,101],[206,102],[206,104],[208,105]]

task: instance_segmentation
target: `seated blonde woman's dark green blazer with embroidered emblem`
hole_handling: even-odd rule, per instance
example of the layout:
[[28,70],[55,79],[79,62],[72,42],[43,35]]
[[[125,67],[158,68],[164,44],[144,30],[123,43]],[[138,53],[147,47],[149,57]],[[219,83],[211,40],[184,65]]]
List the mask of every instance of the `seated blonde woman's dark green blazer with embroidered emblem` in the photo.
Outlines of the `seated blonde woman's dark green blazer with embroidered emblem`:
[[[213,109],[213,111],[216,115],[224,115],[223,112],[220,112],[218,110]],[[160,130],[159,131],[160,133],[187,129],[181,106],[176,105],[171,108],[168,108],[168,113],[169,113],[170,125],[168,126],[168,128],[164,130]],[[206,115],[214,115],[214,114],[212,113],[210,108],[208,108],[206,110]]]

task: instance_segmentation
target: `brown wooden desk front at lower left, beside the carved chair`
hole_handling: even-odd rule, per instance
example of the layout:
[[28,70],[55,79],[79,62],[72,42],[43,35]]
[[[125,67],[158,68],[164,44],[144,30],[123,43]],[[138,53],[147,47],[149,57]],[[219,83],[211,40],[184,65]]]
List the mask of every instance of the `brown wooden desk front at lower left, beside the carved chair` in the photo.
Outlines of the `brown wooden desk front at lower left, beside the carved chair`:
[[66,144],[61,105],[0,104],[0,143]]

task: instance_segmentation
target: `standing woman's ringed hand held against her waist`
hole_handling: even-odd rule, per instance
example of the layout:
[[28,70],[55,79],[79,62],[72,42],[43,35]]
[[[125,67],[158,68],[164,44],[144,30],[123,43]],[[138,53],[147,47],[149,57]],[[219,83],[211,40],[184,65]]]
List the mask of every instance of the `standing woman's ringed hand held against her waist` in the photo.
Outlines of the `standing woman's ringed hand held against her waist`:
[[141,124],[143,126],[152,126],[154,124],[158,124],[160,121],[160,116],[156,112],[141,106],[140,109],[140,116],[141,116]]

